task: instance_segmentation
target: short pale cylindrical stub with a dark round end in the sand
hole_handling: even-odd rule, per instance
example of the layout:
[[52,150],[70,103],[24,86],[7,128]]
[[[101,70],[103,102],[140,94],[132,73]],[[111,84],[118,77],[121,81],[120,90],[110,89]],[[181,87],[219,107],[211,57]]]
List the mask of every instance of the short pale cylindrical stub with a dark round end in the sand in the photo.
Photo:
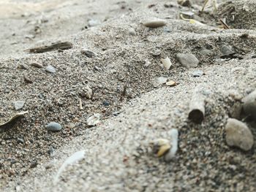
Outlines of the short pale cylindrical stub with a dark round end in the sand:
[[202,123],[205,116],[205,97],[202,93],[195,91],[189,104],[189,120]]

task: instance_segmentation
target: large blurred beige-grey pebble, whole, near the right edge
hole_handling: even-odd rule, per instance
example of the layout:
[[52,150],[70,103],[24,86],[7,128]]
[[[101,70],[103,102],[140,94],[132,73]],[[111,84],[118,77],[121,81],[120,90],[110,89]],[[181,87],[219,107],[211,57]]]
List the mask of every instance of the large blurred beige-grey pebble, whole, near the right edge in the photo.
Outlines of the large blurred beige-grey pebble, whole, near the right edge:
[[252,148],[252,132],[245,123],[229,118],[225,126],[225,131],[227,145],[239,147],[241,150],[250,150]]

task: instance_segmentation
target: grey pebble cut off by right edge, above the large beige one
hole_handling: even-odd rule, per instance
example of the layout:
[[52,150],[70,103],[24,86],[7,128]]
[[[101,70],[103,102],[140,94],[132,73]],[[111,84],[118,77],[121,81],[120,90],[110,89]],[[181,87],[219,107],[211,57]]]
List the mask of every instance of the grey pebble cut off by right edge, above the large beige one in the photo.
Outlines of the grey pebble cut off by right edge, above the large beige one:
[[244,114],[251,116],[256,121],[256,90],[242,99]]

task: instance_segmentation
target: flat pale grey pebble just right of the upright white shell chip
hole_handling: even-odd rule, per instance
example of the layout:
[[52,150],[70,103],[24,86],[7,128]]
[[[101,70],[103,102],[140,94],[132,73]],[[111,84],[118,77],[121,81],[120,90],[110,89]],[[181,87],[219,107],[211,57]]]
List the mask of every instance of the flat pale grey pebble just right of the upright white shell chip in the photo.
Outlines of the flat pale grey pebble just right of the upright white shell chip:
[[192,53],[178,53],[177,58],[181,65],[187,68],[197,67],[199,64],[198,59]]

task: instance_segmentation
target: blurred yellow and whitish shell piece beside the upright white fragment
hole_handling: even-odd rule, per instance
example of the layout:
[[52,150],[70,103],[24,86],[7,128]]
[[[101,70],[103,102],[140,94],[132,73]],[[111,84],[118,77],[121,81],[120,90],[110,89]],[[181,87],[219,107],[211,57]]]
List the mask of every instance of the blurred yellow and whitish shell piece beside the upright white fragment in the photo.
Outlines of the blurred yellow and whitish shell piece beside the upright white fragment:
[[153,153],[157,154],[157,157],[165,155],[168,150],[170,150],[170,142],[167,139],[156,139],[151,142],[153,147]]

